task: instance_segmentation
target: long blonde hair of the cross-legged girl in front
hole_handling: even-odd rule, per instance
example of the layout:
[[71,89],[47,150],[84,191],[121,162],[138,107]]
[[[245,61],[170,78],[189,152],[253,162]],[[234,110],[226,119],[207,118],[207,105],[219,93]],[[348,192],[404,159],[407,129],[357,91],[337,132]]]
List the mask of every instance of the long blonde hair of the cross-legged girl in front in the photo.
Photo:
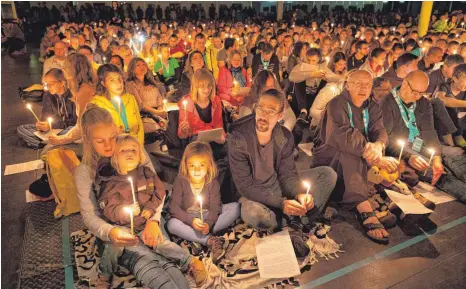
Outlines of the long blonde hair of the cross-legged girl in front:
[[205,183],[210,184],[217,177],[217,166],[213,157],[210,145],[205,142],[195,141],[186,146],[183,157],[181,158],[179,174],[189,181],[188,160],[193,156],[205,156],[209,160]]

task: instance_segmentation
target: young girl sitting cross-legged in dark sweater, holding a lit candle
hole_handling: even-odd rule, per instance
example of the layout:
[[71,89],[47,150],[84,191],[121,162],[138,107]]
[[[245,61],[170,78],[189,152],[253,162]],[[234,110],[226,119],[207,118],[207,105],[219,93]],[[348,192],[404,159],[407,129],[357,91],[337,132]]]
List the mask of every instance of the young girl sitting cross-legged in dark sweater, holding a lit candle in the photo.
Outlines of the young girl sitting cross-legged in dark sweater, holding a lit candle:
[[[228,228],[240,215],[238,203],[222,205],[217,168],[210,145],[190,143],[181,159],[180,173],[173,183],[168,231],[185,240],[207,245],[217,263],[225,254],[223,241],[213,236]],[[199,200],[202,200],[202,217]]]

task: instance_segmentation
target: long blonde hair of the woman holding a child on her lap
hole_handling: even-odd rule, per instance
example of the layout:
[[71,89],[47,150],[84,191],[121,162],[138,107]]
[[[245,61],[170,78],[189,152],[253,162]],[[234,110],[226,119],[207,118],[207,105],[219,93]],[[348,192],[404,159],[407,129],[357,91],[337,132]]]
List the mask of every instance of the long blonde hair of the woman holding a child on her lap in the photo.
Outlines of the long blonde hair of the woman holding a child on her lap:
[[86,111],[81,116],[81,128],[83,134],[83,164],[89,167],[89,174],[92,179],[95,177],[97,162],[100,158],[92,145],[91,139],[92,128],[97,124],[115,125],[112,115],[107,110],[89,103],[86,106]]

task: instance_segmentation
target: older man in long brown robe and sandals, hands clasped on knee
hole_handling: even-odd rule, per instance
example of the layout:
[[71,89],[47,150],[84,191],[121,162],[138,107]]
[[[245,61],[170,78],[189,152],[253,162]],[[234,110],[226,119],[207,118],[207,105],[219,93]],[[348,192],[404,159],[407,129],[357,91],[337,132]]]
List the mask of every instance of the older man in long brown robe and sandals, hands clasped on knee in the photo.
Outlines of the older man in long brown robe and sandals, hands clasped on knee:
[[367,180],[367,171],[376,165],[392,172],[397,169],[398,161],[384,157],[388,135],[382,112],[370,99],[371,91],[369,72],[356,70],[350,73],[343,92],[327,105],[313,150],[312,166],[331,166],[337,172],[340,184],[345,187],[344,207],[356,208],[368,237],[386,244],[388,232],[368,202],[373,184]]

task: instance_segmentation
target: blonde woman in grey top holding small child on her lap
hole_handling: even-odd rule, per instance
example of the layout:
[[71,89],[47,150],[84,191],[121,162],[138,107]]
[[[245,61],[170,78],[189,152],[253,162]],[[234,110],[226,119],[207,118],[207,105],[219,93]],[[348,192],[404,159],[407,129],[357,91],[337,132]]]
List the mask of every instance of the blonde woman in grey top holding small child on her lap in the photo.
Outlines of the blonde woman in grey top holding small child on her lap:
[[[103,217],[97,203],[95,189],[102,181],[97,174],[98,167],[108,164],[115,152],[119,129],[115,125],[112,115],[103,108],[89,104],[82,115],[81,127],[84,155],[82,163],[75,171],[75,182],[78,184],[76,186],[77,197],[86,227],[102,242],[111,242],[113,245],[125,247],[120,257],[121,264],[128,268],[136,279],[146,287],[151,289],[189,288],[180,269],[149,248],[157,247],[164,238],[162,235],[163,225],[159,225],[163,221],[161,217],[162,206],[159,206],[146,222],[141,233],[142,242],[139,242],[137,236],[129,234],[119,226],[108,223]],[[150,163],[145,151],[144,154],[146,162],[142,165],[154,172],[152,163]],[[155,188],[157,191],[165,190],[163,183],[157,176],[155,176]],[[102,285],[102,282],[97,285]]]

